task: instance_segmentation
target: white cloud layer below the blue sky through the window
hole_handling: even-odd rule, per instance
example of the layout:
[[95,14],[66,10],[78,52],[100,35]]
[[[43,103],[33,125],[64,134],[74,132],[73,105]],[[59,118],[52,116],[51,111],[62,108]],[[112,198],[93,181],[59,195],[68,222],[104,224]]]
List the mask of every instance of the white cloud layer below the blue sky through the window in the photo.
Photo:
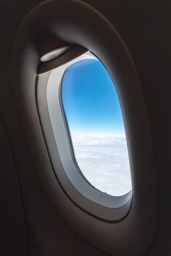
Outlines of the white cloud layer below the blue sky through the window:
[[102,192],[124,195],[131,190],[125,134],[71,134],[75,158],[87,180]]

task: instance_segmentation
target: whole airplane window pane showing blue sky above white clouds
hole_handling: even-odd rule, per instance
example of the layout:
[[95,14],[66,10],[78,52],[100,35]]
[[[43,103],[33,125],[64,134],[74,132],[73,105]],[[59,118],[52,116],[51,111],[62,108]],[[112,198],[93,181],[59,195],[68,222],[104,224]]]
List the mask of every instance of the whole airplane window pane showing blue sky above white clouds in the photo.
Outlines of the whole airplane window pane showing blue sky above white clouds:
[[101,61],[86,59],[70,65],[61,98],[78,171],[101,192],[128,193],[132,186],[122,111]]

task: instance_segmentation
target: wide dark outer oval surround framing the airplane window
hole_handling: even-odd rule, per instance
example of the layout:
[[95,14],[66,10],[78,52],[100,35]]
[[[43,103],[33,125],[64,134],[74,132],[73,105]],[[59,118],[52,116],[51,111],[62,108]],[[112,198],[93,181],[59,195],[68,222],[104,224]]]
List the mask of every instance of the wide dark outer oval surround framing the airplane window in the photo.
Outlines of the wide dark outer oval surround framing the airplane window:
[[[119,95],[133,198],[126,218],[113,223],[87,214],[66,196],[56,180],[43,139],[35,96],[40,58],[67,44],[78,44],[93,52],[115,81]],[[141,85],[122,38],[105,17],[85,3],[46,1],[26,17],[18,33],[13,72],[14,93],[36,171],[58,212],[87,241],[111,255],[145,255],[155,241],[158,225],[154,156]]]

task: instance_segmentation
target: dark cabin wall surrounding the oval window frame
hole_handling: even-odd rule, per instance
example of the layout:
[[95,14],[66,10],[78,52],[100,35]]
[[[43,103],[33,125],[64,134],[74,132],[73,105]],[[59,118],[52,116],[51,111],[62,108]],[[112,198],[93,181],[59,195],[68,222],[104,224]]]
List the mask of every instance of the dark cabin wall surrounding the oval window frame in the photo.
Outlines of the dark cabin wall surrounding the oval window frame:
[[[26,15],[43,0],[0,2],[0,255],[98,255],[56,212],[41,186],[12,91],[12,55]],[[157,175],[159,228],[149,256],[171,254],[171,3],[85,0],[122,36],[148,112]],[[149,195],[150,196],[150,195]]]

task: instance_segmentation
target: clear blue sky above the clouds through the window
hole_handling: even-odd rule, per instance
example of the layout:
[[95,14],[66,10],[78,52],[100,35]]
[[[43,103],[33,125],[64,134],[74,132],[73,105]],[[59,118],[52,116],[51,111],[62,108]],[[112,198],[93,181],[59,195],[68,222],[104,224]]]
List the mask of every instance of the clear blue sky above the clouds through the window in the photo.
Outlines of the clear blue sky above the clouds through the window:
[[100,61],[72,64],[63,79],[62,98],[71,133],[125,134],[116,89]]

